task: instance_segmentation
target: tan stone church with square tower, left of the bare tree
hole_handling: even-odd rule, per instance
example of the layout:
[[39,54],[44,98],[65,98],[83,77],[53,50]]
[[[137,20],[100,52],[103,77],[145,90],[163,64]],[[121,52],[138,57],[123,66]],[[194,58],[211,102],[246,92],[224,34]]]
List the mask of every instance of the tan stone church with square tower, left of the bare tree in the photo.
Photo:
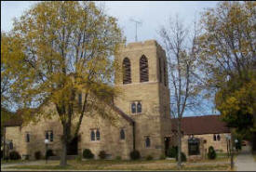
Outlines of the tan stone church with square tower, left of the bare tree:
[[[95,158],[104,151],[110,159],[129,159],[129,153],[137,150],[141,157],[159,158],[177,140],[172,137],[165,51],[155,40],[130,43],[120,49],[115,60],[123,68],[115,76],[115,86],[122,93],[114,100],[118,122],[113,125],[100,116],[84,116],[68,155],[90,149]],[[21,120],[11,122],[5,125],[5,141],[11,141],[20,155],[34,159],[35,152],[45,154],[44,140],[49,139],[48,149],[60,155],[60,128],[57,117],[28,125]]]

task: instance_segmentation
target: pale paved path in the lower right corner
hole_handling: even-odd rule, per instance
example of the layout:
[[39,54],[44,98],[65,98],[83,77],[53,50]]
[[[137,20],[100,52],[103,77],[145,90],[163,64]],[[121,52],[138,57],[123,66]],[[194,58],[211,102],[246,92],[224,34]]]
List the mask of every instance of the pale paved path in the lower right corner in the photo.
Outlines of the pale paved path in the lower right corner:
[[236,157],[237,171],[256,171],[256,162],[251,154],[249,146],[242,147],[242,151]]

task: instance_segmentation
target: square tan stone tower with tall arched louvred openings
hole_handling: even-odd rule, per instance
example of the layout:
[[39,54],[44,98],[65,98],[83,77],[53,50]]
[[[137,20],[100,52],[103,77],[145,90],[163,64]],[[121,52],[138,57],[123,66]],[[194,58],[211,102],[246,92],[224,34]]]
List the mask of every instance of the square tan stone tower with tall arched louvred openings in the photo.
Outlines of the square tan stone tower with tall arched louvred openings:
[[155,40],[130,43],[115,56],[120,70],[115,105],[136,123],[136,149],[142,156],[165,152],[171,132],[168,66],[165,51]]

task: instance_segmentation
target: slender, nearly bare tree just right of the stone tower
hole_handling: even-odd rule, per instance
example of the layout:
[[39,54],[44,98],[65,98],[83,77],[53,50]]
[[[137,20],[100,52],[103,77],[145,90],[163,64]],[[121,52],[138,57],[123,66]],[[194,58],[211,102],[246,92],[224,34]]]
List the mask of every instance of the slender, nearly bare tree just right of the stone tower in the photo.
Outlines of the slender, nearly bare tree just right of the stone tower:
[[[160,36],[167,52],[168,72],[170,73],[170,110],[178,124],[178,167],[182,165],[182,116],[186,109],[196,104],[196,96],[202,90],[196,75],[197,34],[199,29],[190,30],[181,20],[169,20],[162,26]],[[190,36],[189,33],[192,33]]]

